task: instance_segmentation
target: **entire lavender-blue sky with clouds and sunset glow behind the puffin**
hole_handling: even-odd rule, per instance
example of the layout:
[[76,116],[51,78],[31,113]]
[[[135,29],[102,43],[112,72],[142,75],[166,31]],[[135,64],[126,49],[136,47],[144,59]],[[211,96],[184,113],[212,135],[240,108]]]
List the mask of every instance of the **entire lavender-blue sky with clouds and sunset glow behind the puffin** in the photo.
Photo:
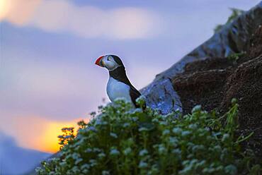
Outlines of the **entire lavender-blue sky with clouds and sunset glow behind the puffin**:
[[104,54],[138,89],[258,0],[0,0],[0,133],[56,152],[57,135],[109,102]]

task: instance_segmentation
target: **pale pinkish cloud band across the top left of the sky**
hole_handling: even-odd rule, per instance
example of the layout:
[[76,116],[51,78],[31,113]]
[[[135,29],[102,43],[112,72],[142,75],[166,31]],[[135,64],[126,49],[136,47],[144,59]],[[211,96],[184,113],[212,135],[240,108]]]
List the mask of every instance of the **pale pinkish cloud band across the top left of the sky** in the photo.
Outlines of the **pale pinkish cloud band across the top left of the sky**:
[[48,32],[116,40],[151,37],[159,32],[159,17],[144,8],[102,9],[65,0],[0,0],[0,5],[0,21]]

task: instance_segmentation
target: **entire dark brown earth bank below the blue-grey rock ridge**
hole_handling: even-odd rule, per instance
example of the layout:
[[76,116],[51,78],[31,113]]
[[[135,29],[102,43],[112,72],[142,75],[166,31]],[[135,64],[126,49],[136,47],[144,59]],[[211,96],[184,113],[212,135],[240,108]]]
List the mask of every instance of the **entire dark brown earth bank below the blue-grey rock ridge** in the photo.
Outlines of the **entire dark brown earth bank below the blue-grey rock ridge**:
[[173,78],[181,97],[183,113],[196,105],[224,113],[236,98],[239,104],[239,135],[254,135],[244,147],[262,157],[262,27],[251,38],[249,52],[237,61],[208,58],[186,64],[185,71]]

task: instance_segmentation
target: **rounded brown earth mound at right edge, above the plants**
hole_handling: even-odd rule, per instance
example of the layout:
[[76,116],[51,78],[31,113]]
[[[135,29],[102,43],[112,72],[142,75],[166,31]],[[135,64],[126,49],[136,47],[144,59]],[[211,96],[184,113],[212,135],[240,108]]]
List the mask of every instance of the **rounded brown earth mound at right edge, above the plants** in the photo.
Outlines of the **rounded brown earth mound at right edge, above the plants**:
[[262,157],[262,49],[260,56],[241,64],[227,78],[222,97],[222,111],[230,107],[232,98],[238,99],[240,133],[254,132],[243,144]]

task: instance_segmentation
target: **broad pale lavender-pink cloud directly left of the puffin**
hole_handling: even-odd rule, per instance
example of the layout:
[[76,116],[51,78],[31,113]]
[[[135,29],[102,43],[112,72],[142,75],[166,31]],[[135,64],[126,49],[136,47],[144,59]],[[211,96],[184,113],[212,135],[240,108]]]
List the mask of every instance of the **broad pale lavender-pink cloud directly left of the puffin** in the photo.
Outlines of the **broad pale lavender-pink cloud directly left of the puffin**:
[[[38,57],[45,60],[45,57]],[[49,119],[74,119],[96,109],[102,97],[106,97],[101,83],[106,84],[108,75],[105,73],[104,81],[97,81],[95,71],[86,71],[91,66],[83,68],[72,63],[33,61],[23,56],[13,59],[4,55],[3,58],[8,59],[3,61],[0,71],[2,116],[4,111],[8,111],[14,115],[22,113],[44,115]]]

